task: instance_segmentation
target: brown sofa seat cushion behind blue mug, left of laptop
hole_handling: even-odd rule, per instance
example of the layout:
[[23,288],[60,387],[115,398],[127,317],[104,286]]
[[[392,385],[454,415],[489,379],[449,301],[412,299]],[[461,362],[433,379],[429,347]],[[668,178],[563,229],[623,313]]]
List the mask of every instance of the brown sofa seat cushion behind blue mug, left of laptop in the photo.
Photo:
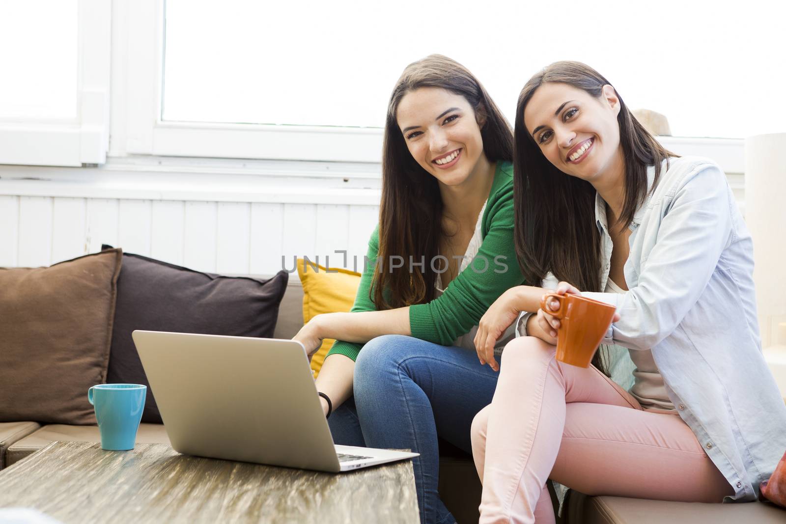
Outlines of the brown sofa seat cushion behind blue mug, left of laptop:
[[[17,463],[39,449],[56,441],[101,442],[97,426],[67,426],[50,424],[11,445],[6,453],[7,465]],[[167,431],[163,424],[139,424],[137,444],[169,444]]]

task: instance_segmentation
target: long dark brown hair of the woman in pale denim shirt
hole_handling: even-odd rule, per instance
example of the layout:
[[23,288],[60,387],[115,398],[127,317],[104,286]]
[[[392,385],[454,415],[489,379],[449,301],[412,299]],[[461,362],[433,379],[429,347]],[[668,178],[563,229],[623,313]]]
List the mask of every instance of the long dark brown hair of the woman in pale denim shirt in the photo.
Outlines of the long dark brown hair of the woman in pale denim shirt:
[[[516,257],[524,278],[540,282],[551,273],[582,291],[601,290],[601,233],[595,222],[595,189],[586,180],[564,174],[543,156],[524,126],[524,109],[546,82],[558,82],[600,98],[611,85],[581,62],[555,62],[534,75],[521,90],[516,106],[513,191],[516,206]],[[615,90],[616,93],[616,90]],[[619,93],[617,93],[619,97]],[[619,143],[625,161],[625,203],[619,225],[630,225],[648,194],[647,167],[655,167],[654,191],[661,163],[670,156],[619,97]],[[601,352],[593,364],[601,365]]]

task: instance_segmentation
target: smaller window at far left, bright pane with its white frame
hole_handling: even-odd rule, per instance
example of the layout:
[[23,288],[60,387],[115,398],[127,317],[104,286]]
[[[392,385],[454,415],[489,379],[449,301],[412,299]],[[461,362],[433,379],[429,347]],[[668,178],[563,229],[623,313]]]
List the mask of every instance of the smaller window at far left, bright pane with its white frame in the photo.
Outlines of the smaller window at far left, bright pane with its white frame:
[[0,3],[0,163],[103,163],[110,2]]

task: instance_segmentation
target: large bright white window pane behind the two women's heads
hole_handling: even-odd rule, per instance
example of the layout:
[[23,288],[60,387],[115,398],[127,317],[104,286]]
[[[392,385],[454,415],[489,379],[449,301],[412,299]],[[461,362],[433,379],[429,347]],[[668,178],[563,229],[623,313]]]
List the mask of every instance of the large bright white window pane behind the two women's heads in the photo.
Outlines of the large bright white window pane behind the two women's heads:
[[786,131],[783,5],[167,0],[163,120],[382,126],[406,64],[443,53],[509,119],[535,71],[580,60],[674,136]]

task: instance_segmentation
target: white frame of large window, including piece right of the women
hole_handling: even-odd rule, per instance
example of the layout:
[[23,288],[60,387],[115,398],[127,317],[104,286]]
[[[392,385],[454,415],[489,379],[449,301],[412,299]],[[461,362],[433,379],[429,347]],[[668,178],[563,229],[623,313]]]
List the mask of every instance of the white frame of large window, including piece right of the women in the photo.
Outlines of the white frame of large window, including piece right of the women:
[[[119,53],[116,50],[114,57],[116,61],[123,57],[127,63],[123,65],[125,92],[112,93],[113,136],[121,142],[113,143],[113,153],[351,163],[381,161],[383,130],[379,128],[163,122],[160,108],[165,0],[115,1],[123,4],[123,13],[119,14],[127,38],[116,38],[122,49]],[[115,29],[119,31],[119,27]],[[118,119],[121,113],[123,116]],[[680,155],[714,159],[727,173],[744,170],[742,139],[658,138]]]

